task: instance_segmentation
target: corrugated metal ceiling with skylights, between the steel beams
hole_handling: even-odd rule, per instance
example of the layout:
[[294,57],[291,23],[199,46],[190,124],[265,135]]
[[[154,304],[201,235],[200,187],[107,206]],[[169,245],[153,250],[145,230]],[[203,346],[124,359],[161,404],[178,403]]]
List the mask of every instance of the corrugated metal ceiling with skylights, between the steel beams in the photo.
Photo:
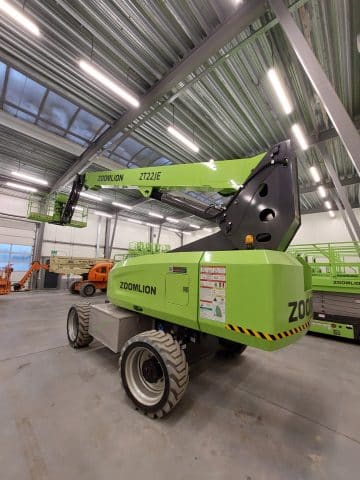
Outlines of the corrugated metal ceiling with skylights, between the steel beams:
[[[80,58],[92,56],[97,64],[141,96],[206,39],[236,8],[235,3],[233,0],[28,0],[25,10],[38,23],[42,31],[40,39],[30,37],[0,17],[0,58],[4,64],[17,67],[8,69],[6,74],[5,66],[0,64],[0,92],[2,83],[7,82],[3,108],[11,115],[87,146],[124,114],[125,105],[80,71],[77,66]],[[351,116],[358,119],[360,65],[355,40],[360,21],[358,2],[289,3],[296,5],[295,20],[339,97]],[[267,84],[266,71],[272,65],[282,73],[296,105],[290,117],[281,114]],[[210,157],[239,158],[266,150],[287,138],[292,121],[300,121],[308,136],[315,138],[331,127],[271,13],[239,32],[218,55],[206,59],[184,78],[171,94],[163,107],[130,126],[130,138],[120,145],[121,134],[114,138],[104,155],[124,167],[196,162]],[[200,146],[199,154],[189,153],[168,137],[166,127],[173,121],[194,136]],[[340,179],[355,178],[354,167],[339,139],[328,140],[326,147]],[[49,152],[48,157],[43,154],[46,165],[52,162],[53,153]],[[2,151],[3,159],[4,155],[6,151]],[[318,165],[324,180],[329,181],[315,148],[298,152],[298,158],[301,187],[312,185],[308,173],[312,164]],[[30,156],[23,161],[34,167],[38,165]],[[70,161],[73,158],[66,155],[57,157],[53,175],[60,175]],[[358,190],[358,185],[347,187],[354,205],[359,201]],[[322,202],[316,193],[310,192],[301,196],[301,204],[305,211],[311,211],[320,208]]]

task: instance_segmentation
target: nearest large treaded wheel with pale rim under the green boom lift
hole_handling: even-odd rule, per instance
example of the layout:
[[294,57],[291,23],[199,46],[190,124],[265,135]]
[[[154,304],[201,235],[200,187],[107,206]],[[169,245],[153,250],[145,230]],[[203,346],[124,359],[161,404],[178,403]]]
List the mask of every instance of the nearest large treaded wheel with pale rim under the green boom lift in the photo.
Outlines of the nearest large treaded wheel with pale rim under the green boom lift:
[[149,330],[125,343],[120,375],[136,407],[160,418],[183,397],[189,382],[189,367],[180,344],[170,334]]

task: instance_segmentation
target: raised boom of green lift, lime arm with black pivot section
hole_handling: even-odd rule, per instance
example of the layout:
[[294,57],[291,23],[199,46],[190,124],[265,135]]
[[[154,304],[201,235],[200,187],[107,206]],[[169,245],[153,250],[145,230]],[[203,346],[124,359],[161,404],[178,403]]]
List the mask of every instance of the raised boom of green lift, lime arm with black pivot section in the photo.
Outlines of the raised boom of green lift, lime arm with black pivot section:
[[[220,232],[176,251],[242,250],[247,248],[247,235],[254,239],[252,248],[285,251],[300,226],[297,164],[290,140],[251,158],[78,175],[63,212],[63,224],[71,221],[83,186],[93,190],[136,187],[145,197],[219,225]],[[216,191],[231,197],[226,206],[204,208],[169,193],[181,189]]]

